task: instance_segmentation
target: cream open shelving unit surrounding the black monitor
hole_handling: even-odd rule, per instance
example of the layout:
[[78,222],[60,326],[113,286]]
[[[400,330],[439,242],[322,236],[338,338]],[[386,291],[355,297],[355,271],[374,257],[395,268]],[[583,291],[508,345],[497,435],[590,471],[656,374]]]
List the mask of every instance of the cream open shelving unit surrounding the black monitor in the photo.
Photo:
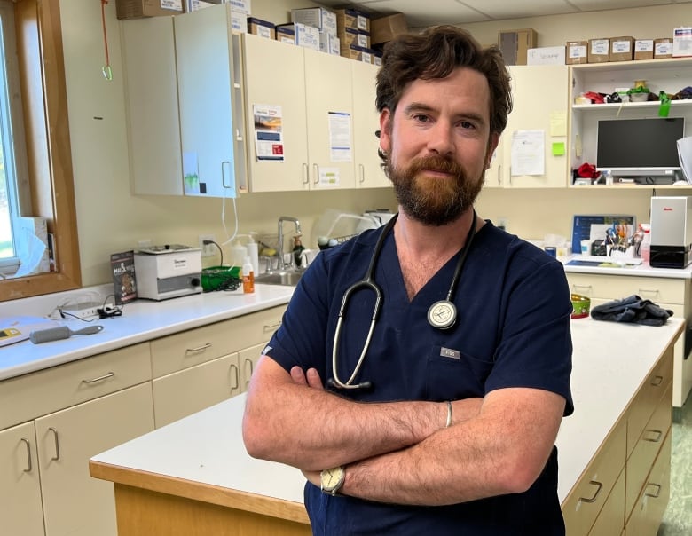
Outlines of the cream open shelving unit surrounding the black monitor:
[[[633,88],[640,80],[646,81],[649,91],[655,95],[659,91],[675,93],[689,85],[692,58],[574,65],[570,67],[570,74],[570,163],[576,169],[585,162],[596,163],[599,121],[656,118],[661,105],[658,101],[575,104],[575,98],[586,91],[611,94],[616,88]],[[673,100],[668,117],[684,117],[685,135],[692,134],[692,100]],[[623,185],[612,187],[622,188]]]

